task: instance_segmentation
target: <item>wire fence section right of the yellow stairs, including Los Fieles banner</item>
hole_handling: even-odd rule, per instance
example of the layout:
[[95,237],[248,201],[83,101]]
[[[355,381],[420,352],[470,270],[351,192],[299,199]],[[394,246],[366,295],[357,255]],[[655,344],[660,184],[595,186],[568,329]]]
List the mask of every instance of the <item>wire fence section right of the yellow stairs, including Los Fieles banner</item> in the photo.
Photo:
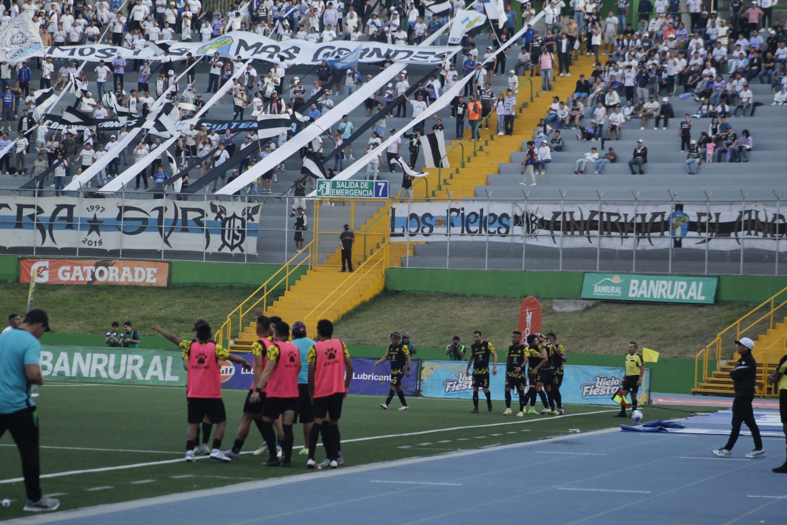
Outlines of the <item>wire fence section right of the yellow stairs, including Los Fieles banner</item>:
[[787,275],[780,201],[410,201],[406,268]]

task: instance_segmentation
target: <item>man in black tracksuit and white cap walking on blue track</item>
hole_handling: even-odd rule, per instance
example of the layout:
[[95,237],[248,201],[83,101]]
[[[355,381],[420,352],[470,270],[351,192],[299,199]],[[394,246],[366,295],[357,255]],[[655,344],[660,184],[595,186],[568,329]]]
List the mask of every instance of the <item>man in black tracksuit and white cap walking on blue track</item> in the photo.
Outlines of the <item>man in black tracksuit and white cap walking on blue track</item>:
[[713,453],[719,457],[731,457],[733,455],[733,446],[735,446],[738,434],[741,433],[741,423],[746,423],[748,430],[752,431],[752,438],[754,438],[754,450],[746,454],[746,457],[765,457],[763,438],[759,435],[759,427],[757,427],[757,423],[754,420],[754,409],[752,409],[754,384],[757,378],[757,362],[752,356],[754,342],[750,338],[744,337],[740,341],[736,341],[735,344],[737,345],[737,353],[741,354],[741,358],[735,363],[735,368],[730,371],[730,378],[735,386],[733,428],[730,431],[730,438],[727,440],[727,444],[721,449],[714,450]]

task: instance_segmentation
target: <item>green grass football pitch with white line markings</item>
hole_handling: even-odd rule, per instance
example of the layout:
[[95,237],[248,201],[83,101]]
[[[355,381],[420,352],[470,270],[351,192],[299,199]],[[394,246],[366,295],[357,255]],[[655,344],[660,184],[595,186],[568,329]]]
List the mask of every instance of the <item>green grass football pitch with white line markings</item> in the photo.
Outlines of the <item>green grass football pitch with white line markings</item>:
[[[224,449],[235,438],[245,396],[245,390],[224,390]],[[372,396],[345,400],[340,428],[346,465],[530,441],[567,434],[573,428],[593,431],[621,423],[611,417],[614,406],[567,405],[566,416],[518,418],[501,415],[502,401],[494,403],[491,413],[470,414],[469,400],[415,398],[408,400],[407,412],[383,411],[378,405],[381,400]],[[42,489],[44,494],[60,494],[63,510],[306,472],[306,457],[298,455],[291,469],[261,467],[265,457],[249,453],[262,442],[255,427],[246,440],[247,453],[231,464],[207,459],[183,462],[187,423],[181,388],[50,383],[42,387],[36,402],[45,476]],[[398,406],[394,399],[393,408]],[[645,420],[660,420],[703,410],[645,407],[643,412]],[[301,446],[301,426],[294,431],[295,446]],[[317,459],[323,457],[320,448]],[[21,510],[22,482],[9,482],[21,476],[21,468],[8,434],[0,439],[0,465],[0,498],[13,500],[10,507],[0,508],[0,520],[27,515]]]

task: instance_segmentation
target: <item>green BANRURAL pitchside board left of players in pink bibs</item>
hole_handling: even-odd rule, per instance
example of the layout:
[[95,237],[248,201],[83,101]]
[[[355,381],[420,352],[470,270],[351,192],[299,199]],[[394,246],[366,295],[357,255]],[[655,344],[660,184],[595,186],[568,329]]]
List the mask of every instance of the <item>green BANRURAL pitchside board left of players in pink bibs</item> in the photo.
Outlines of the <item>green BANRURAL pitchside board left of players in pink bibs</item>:
[[45,381],[186,385],[181,354],[169,350],[46,345],[40,364]]

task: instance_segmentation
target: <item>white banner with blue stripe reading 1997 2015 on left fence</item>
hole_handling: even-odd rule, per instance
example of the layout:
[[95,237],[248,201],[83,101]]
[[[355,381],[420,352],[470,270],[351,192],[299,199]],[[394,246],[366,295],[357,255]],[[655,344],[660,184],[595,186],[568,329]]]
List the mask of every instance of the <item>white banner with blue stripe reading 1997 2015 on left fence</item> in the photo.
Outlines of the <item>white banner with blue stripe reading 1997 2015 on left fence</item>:
[[0,247],[256,255],[259,213],[243,202],[9,195],[0,197]]

